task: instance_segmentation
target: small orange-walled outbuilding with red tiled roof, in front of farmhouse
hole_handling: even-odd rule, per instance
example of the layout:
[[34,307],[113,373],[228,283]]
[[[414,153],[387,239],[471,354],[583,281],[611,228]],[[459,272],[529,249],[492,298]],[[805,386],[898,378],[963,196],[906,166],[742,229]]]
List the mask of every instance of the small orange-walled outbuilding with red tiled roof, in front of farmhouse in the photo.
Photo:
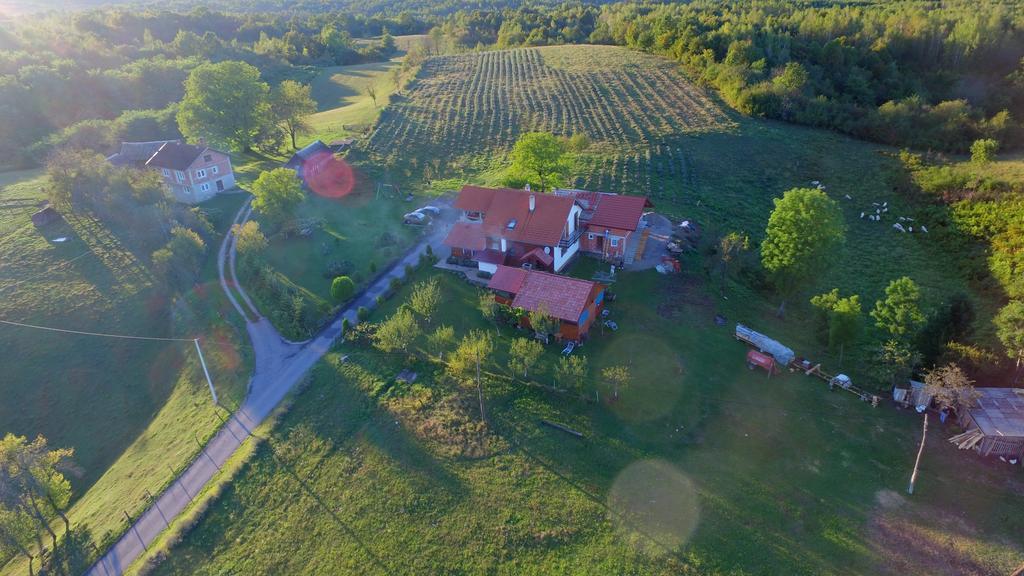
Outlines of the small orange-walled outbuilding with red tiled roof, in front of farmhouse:
[[[487,288],[498,302],[557,319],[559,339],[586,338],[604,307],[603,285],[547,272],[498,266]],[[523,318],[522,324],[529,326],[529,320]]]

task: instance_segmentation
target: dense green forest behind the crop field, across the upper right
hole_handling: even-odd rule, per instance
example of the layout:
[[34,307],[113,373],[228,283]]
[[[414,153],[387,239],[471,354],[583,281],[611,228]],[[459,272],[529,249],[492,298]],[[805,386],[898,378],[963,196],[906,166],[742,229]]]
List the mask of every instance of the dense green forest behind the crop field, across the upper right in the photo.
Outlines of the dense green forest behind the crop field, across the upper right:
[[752,116],[965,152],[1024,141],[1024,4],[783,0],[460,11],[453,48],[604,43],[670,56]]

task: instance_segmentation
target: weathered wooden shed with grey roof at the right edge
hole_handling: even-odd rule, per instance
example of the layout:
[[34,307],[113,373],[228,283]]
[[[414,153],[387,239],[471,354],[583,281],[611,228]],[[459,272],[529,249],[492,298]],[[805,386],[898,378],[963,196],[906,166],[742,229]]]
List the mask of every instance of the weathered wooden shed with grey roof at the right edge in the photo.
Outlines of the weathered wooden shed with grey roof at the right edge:
[[1024,388],[975,388],[978,400],[963,415],[964,429],[979,430],[982,456],[1024,457]]

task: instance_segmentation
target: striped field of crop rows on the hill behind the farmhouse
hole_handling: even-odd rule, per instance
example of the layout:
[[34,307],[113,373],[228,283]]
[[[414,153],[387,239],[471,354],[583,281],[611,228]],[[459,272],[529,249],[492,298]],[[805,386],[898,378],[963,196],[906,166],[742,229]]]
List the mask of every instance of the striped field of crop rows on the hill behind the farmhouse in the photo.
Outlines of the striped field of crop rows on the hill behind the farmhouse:
[[522,48],[428,60],[385,112],[370,151],[388,165],[443,170],[504,156],[522,132],[585,134],[598,152],[578,184],[657,198],[692,182],[673,142],[728,125],[668,60],[609,47]]

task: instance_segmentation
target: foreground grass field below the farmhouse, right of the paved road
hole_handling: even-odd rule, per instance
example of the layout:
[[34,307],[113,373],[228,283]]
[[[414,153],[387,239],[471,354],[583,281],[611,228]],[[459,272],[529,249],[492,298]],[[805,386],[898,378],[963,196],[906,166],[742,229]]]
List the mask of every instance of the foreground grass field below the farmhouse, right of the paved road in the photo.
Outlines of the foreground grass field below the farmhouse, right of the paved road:
[[[694,280],[651,272],[616,284],[622,328],[583,354],[592,375],[632,360],[635,383],[617,403],[513,380],[503,328],[484,366],[487,428],[474,392],[433,363],[397,384],[400,357],[341,346],[156,573],[963,575],[1019,564],[1018,472],[933,429],[906,496],[920,416],[748,371],[731,326],[711,318],[746,320],[748,304],[707,305]],[[435,325],[494,330],[474,312],[475,288],[447,275],[442,287]],[[772,329],[817,351],[799,324]],[[550,382],[550,368],[534,378]]]

